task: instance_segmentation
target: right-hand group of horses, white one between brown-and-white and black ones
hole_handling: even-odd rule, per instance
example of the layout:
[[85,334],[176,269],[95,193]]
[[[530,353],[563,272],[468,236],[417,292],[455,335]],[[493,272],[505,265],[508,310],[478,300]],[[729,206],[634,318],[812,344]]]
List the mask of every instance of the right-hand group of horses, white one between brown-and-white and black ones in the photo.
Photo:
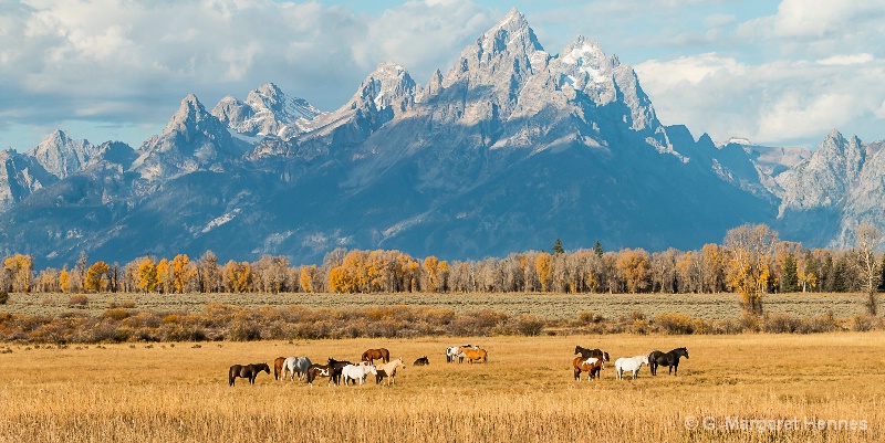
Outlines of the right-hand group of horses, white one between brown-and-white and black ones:
[[[575,346],[574,354],[581,355],[581,357],[575,357],[572,360],[575,380],[581,380],[581,372],[587,372],[587,381],[600,377],[600,371],[605,368],[605,362],[611,361],[608,352],[601,349],[586,349]],[[647,356],[622,357],[615,360],[615,377],[618,380],[623,380],[624,372],[629,371],[631,378],[636,380],[643,365],[648,366],[653,376],[657,376],[657,368],[660,366],[668,367],[667,373],[676,376],[679,371],[680,357],[688,358],[688,349],[676,348],[669,352],[653,350]]]

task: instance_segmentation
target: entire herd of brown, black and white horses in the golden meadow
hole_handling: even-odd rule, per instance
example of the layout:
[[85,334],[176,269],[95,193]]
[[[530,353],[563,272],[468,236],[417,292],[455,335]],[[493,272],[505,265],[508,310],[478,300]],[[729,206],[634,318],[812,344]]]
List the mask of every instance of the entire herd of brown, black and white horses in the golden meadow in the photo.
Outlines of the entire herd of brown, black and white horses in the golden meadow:
[[[572,361],[574,368],[574,379],[581,380],[581,372],[587,372],[587,380],[593,380],[600,377],[600,371],[605,368],[605,362],[611,361],[608,352],[601,349],[586,349],[581,346],[575,346],[575,357]],[[629,371],[632,378],[635,380],[638,377],[639,369],[643,365],[647,365],[653,376],[657,376],[657,368],[666,366],[669,368],[668,373],[677,375],[679,368],[679,358],[688,358],[688,350],[686,348],[676,348],[669,352],[662,352],[654,350],[647,356],[624,357],[615,360],[615,376],[618,380],[624,378],[624,372]],[[464,362],[467,359],[468,363],[472,362],[487,362],[488,351],[476,345],[451,346],[446,348],[446,362]],[[375,360],[381,360],[379,365],[375,365]],[[430,361],[427,356],[415,360],[413,366],[427,366]],[[327,384],[364,384],[366,378],[372,375],[375,376],[375,383],[381,383],[385,378],[387,384],[394,384],[397,370],[406,369],[406,363],[403,357],[391,360],[391,352],[385,348],[367,349],[360,357],[356,363],[335,360],[329,358],[325,365],[311,362],[308,357],[278,357],[273,361],[273,379],[290,381],[295,380],[298,375],[299,381],[306,379],[308,384],[313,387],[313,381],[320,378],[327,378]],[[270,366],[268,363],[252,363],[252,365],[233,365],[228,371],[228,382],[233,386],[237,378],[244,378],[249,380],[250,384],[256,383],[256,377],[259,373],[267,372],[270,375]]]

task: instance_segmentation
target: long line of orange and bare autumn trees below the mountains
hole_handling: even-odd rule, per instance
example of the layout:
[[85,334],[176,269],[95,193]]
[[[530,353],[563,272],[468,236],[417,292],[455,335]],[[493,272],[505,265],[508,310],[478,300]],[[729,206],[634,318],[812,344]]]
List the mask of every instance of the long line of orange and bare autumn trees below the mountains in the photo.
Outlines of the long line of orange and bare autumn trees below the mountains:
[[[144,256],[126,264],[91,263],[85,253],[69,267],[35,273],[32,257],[3,261],[0,287],[44,293],[720,293],[745,297],[756,310],[768,293],[882,291],[885,255],[872,245],[878,232],[858,228],[851,250],[806,249],[780,241],[764,224],[728,231],[722,244],[700,250],[643,249],[529,251],[504,257],[452,261],[413,257],[402,251],[336,249],[321,264],[292,266],[285,256],[220,263],[207,251],[198,259]],[[862,241],[863,240],[863,241]],[[865,242],[865,243],[864,243]],[[871,297],[871,299],[873,299]]]

